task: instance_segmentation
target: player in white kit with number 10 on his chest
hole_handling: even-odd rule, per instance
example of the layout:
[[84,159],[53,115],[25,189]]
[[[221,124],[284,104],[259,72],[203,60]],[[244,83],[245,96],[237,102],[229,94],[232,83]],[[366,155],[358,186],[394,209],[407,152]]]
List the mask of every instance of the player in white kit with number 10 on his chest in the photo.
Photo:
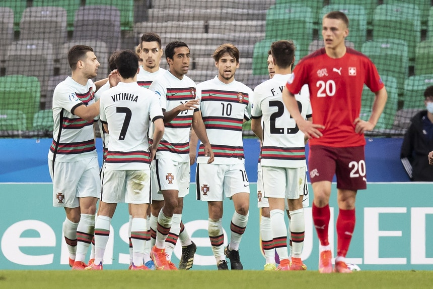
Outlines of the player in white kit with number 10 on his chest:
[[[245,171],[242,124],[251,117],[252,90],[235,80],[239,50],[230,43],[213,52],[218,75],[197,85],[200,109],[215,160],[207,163],[203,144],[197,157],[197,200],[207,202],[208,234],[219,270],[242,270],[239,244],[248,222],[250,189]],[[194,139],[194,138],[192,138]],[[197,143],[192,144],[196,147]],[[194,149],[194,148],[191,148]],[[233,200],[235,212],[230,224],[230,242],[224,248],[223,201]]]

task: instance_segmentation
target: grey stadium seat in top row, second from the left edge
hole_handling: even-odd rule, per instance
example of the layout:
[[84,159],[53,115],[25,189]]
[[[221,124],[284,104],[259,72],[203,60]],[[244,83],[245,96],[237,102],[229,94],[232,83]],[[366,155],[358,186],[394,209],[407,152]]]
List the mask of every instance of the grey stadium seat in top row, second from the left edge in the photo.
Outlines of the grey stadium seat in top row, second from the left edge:
[[49,41],[58,55],[66,41],[67,13],[61,7],[29,7],[24,10],[20,23],[20,40]]

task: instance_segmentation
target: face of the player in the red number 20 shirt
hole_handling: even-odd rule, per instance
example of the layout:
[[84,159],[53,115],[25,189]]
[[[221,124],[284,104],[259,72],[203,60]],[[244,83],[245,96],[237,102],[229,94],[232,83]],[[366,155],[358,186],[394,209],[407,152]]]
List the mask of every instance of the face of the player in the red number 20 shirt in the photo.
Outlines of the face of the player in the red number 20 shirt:
[[322,36],[325,48],[335,49],[344,46],[344,39],[349,34],[346,24],[340,19],[324,18]]

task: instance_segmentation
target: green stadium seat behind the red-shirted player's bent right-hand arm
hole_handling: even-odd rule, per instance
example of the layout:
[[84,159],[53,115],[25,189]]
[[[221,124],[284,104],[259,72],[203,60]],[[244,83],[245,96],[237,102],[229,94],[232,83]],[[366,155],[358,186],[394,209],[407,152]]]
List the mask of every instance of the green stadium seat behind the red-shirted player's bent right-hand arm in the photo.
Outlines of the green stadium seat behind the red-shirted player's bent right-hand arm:
[[[394,124],[395,113],[398,108],[398,89],[397,79],[391,76],[382,76],[382,81],[385,84],[386,91],[388,93],[388,100],[385,108],[379,118],[378,123],[374,130],[390,130]],[[375,99],[374,93],[367,87],[364,86],[362,106],[359,117],[368,121],[372,112],[373,101]]]

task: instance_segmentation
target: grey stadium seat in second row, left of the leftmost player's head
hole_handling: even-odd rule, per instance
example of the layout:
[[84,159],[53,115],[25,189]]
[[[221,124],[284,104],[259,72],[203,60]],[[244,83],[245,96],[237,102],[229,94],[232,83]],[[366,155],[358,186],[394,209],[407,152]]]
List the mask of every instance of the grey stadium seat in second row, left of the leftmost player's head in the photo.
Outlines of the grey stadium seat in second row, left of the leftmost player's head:
[[36,76],[44,91],[53,67],[52,45],[46,40],[19,40],[8,47],[6,75]]

